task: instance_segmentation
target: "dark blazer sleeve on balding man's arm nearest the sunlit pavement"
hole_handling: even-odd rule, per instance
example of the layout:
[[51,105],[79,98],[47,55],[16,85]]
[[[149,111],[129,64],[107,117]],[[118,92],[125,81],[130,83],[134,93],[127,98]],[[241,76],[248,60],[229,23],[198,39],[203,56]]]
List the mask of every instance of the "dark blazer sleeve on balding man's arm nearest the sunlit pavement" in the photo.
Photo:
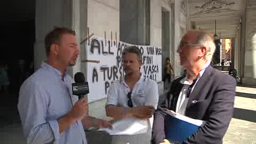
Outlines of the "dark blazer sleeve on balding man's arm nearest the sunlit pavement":
[[233,116],[236,92],[235,78],[222,75],[206,113],[209,118],[204,126],[182,143],[221,143]]

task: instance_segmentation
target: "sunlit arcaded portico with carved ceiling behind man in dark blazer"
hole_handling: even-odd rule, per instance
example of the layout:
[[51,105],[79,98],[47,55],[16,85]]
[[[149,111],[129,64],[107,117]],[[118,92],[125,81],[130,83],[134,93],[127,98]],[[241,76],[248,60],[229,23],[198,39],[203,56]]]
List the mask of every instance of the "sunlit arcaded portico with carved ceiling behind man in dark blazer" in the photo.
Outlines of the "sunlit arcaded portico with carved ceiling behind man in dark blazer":
[[256,1],[189,0],[188,7],[188,23],[191,29],[214,34],[214,20],[217,21],[217,34],[221,33],[221,38],[231,38],[231,67],[237,69],[242,84],[255,86]]

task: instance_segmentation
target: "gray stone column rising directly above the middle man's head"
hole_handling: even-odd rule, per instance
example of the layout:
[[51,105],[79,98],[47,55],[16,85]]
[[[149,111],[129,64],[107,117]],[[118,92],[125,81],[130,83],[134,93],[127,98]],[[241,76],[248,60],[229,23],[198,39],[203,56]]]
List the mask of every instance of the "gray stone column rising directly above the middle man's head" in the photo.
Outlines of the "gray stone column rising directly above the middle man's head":
[[147,34],[148,0],[121,0],[120,3],[120,41],[146,45],[149,44]]

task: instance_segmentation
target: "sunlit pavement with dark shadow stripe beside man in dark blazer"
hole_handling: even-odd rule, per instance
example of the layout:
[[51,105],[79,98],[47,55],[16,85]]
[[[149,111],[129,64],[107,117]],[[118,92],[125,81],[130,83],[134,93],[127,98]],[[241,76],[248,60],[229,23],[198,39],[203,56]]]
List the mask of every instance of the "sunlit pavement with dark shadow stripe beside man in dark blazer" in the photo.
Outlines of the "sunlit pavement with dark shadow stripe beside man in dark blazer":
[[256,88],[236,87],[234,116],[223,143],[256,143]]

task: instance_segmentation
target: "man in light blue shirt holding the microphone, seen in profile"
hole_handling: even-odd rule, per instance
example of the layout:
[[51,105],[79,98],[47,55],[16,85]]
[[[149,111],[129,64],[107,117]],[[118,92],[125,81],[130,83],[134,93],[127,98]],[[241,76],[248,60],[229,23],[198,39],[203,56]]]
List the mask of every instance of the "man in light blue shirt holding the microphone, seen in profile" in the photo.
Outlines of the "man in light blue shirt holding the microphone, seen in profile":
[[75,31],[56,28],[45,37],[47,61],[21,86],[18,110],[27,143],[83,143],[83,127],[109,127],[88,116],[86,97],[72,95],[66,68],[79,55]]

